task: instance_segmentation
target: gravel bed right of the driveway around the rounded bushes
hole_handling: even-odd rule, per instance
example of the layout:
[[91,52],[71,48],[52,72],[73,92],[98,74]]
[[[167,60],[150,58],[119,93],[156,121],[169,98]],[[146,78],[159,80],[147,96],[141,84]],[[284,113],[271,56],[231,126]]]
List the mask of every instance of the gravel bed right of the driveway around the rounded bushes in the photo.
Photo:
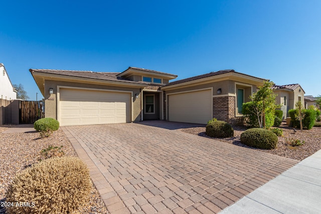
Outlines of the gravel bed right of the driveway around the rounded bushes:
[[[246,148],[260,150],[262,152],[267,152],[283,157],[289,157],[296,160],[303,160],[304,158],[312,155],[321,149],[321,127],[313,127],[310,130],[304,130],[300,132],[300,130],[296,130],[294,133],[293,128],[285,125],[285,122],[282,122],[281,126],[278,127],[283,130],[283,136],[278,137],[277,148],[271,150],[258,149],[249,147],[241,143],[240,137],[243,131],[247,128],[243,125],[233,125],[234,129],[234,137],[231,138],[213,138],[209,137],[205,133],[205,125],[204,127],[194,127],[194,128],[186,128],[181,129],[181,131],[195,134],[202,137],[213,138],[215,140],[219,140],[226,143],[231,143],[238,146],[243,146]],[[274,128],[274,127],[273,127]],[[291,139],[298,139],[300,141],[304,141],[305,143],[301,146],[291,146],[289,141]]]

